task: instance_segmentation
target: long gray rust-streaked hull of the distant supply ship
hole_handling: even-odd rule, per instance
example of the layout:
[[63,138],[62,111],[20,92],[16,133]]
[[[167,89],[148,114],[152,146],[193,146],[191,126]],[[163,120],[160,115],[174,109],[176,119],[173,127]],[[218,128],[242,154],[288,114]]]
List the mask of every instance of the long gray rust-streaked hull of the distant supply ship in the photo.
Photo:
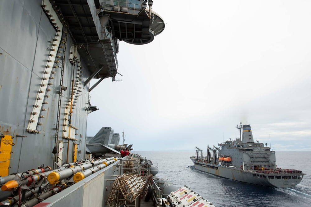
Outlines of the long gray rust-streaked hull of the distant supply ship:
[[[283,176],[299,176],[301,174],[263,174],[257,173],[256,170],[241,170],[228,166],[221,166],[216,164],[209,164],[204,162],[193,161],[194,168],[202,172],[210,173],[221,178],[228,178],[239,182],[251,183],[255,185],[262,185],[268,187],[294,187],[301,180],[300,179],[282,179]],[[268,176],[280,176],[281,179],[268,179]]]

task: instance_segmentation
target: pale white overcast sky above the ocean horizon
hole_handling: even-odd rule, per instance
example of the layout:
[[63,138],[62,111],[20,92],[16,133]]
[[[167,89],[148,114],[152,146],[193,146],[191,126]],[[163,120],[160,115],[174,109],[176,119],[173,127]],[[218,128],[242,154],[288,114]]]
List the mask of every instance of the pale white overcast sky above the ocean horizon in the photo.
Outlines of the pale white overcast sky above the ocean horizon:
[[123,80],[90,93],[100,110],[87,136],[112,127],[137,151],[206,150],[242,122],[276,151],[311,151],[311,1],[154,0],[153,11],[164,31],[119,43]]

